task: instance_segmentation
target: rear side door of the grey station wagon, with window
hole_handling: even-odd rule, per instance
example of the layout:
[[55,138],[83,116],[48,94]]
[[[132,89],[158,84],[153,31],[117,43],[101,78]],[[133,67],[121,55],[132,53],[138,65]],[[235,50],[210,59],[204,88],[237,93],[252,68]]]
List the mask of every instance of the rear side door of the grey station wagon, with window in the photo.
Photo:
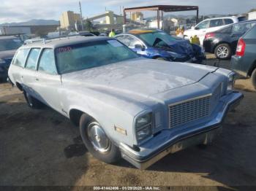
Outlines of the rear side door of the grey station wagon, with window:
[[31,48],[28,58],[26,59],[25,69],[23,70],[23,74],[21,76],[23,81],[23,90],[34,98],[39,98],[39,94],[35,90],[39,52],[40,48]]

